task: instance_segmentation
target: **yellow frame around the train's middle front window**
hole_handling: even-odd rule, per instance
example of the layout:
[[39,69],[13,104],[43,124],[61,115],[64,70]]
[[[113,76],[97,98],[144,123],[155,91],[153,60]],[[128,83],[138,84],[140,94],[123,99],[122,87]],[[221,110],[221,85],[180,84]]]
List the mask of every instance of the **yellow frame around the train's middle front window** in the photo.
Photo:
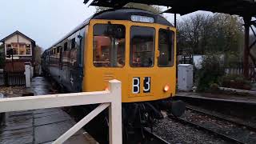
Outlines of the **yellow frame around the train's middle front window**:
[[[142,66],[131,66],[131,62],[132,62],[132,60],[133,60],[133,55],[131,55],[130,54],[130,52],[131,52],[131,47],[130,46],[132,46],[132,40],[131,40],[131,29],[132,29],[132,27],[133,26],[139,26],[139,27],[146,27],[146,28],[151,28],[151,29],[153,29],[154,30],[154,46],[153,46],[153,52],[154,52],[154,54],[153,54],[153,56],[154,56],[154,58],[153,58],[153,65],[152,66],[146,66],[146,67],[142,67]],[[154,66],[155,66],[155,60],[156,60],[156,52],[155,52],[155,50],[156,50],[156,34],[157,34],[157,28],[156,27],[154,27],[154,26],[142,26],[142,25],[131,25],[130,26],[130,34],[129,34],[129,41],[130,41],[130,44],[129,44],[129,66],[131,67],[131,68],[154,68]]]

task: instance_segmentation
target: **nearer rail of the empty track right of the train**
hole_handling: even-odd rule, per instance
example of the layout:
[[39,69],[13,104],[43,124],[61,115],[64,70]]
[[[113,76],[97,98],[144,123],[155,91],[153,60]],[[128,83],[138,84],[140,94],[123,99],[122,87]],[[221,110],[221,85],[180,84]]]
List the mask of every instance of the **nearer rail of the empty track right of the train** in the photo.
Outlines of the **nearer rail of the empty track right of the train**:
[[204,126],[200,126],[200,125],[198,125],[194,122],[189,122],[189,121],[187,121],[186,119],[183,119],[183,118],[177,118],[177,117],[174,117],[174,116],[169,116],[169,118],[171,118],[172,120],[174,120],[176,122],[181,122],[182,124],[193,126],[198,130],[204,130],[204,131],[208,132],[209,134],[214,134],[214,135],[216,135],[216,136],[218,136],[222,139],[225,139],[228,142],[238,143],[238,144],[244,144],[245,143],[245,142],[239,141],[238,139],[231,138],[230,136],[227,136],[225,134],[218,133],[217,131],[210,130],[210,129],[204,127]]

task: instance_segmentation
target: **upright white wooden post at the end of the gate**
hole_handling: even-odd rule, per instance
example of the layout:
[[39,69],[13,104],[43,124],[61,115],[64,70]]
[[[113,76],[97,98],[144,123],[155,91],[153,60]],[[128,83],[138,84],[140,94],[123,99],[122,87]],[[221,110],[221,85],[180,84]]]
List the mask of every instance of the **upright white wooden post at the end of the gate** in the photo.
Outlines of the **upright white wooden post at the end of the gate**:
[[110,144],[122,144],[122,90],[121,82],[110,81],[112,102],[109,107]]

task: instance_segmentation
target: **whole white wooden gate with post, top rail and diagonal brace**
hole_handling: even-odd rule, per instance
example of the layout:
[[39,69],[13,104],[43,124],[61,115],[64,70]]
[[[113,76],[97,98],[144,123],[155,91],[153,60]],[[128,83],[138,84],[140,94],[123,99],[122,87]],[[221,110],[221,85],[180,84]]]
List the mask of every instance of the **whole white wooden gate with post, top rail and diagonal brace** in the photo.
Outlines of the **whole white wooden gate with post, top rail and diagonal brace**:
[[99,104],[95,110],[82,118],[65,134],[56,139],[53,143],[62,143],[80,130],[86,123],[96,117],[98,114],[109,107],[109,134],[111,144],[122,144],[122,95],[121,82],[111,80],[109,83],[110,90],[97,92],[83,92],[73,94],[50,94],[38,95],[33,97],[18,98],[1,98],[0,113],[19,111],[19,110],[36,110],[62,106],[81,106],[90,104]]

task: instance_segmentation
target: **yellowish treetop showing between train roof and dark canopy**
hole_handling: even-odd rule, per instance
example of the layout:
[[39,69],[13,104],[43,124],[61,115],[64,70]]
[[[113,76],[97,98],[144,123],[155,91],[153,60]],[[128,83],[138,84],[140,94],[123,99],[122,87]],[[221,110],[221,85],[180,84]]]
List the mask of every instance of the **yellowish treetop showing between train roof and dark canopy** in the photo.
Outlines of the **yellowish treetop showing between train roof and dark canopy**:
[[[150,11],[154,14],[160,14],[162,12],[160,6],[150,6],[150,5],[146,5],[146,4],[133,3],[133,2],[130,2],[130,3],[126,4],[126,6],[123,6],[123,7],[147,10],[147,11]],[[108,9],[110,9],[110,8],[97,6],[96,7],[96,13],[98,13],[102,10],[108,10]]]

